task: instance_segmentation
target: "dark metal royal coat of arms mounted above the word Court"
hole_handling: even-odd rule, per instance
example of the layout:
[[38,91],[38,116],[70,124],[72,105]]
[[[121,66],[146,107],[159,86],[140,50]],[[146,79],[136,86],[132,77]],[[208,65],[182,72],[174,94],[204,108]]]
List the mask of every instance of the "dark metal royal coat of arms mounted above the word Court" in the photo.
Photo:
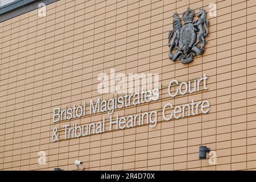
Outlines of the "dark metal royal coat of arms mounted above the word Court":
[[[198,19],[193,20],[195,10],[188,9],[182,14],[184,24],[177,13],[174,13],[173,27],[168,34],[169,57],[172,61],[180,60],[187,64],[193,61],[196,55],[202,55],[207,41],[205,37],[209,34],[209,20],[206,12],[200,9],[197,15]],[[176,52],[174,52],[176,49]]]

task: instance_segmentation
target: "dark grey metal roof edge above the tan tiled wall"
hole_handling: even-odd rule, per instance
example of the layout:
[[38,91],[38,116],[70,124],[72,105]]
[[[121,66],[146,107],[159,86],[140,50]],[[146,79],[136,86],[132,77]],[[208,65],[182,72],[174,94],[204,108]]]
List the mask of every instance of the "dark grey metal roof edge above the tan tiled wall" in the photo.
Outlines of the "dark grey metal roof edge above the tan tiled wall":
[[48,5],[56,1],[59,0],[23,0],[7,4],[0,9],[0,22],[4,22],[5,20],[14,18],[15,16],[38,9],[39,3]]

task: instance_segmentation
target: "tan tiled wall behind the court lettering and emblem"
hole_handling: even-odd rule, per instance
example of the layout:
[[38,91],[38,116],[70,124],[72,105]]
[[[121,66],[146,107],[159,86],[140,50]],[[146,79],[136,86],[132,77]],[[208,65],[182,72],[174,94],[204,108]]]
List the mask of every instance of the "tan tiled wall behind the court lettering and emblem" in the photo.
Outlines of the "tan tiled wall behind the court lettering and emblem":
[[[190,6],[217,3],[209,17],[203,56],[190,64],[168,58],[172,15]],[[198,10],[196,10],[197,12]],[[64,170],[237,170],[256,169],[256,1],[254,0],[60,0],[0,23],[0,169]],[[159,73],[172,79],[209,77],[208,90],[126,107],[129,115],[194,100],[209,100],[210,111],[158,125],[51,142],[52,129],[101,121],[106,113],[53,124],[52,110],[113,94],[97,92],[97,75]],[[62,132],[63,135],[63,132]],[[198,159],[200,145],[217,152],[217,164]],[[45,165],[38,152],[45,151]]]

